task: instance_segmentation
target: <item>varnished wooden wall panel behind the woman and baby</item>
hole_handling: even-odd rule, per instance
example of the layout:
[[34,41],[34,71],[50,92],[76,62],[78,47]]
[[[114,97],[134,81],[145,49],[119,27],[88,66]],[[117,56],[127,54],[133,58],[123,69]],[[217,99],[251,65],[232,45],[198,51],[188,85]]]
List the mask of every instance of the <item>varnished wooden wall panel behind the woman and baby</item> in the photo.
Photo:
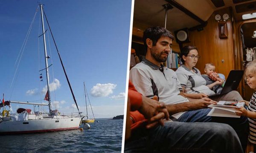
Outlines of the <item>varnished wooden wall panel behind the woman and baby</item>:
[[[209,20],[208,24],[204,27],[203,31],[190,31],[189,43],[184,45],[195,45],[198,48],[198,54],[201,59],[198,60],[196,68],[198,68],[202,74],[204,74],[204,65],[207,62],[212,62],[216,66],[216,72],[228,76],[230,70],[234,69],[233,65],[233,33],[231,20],[227,20],[227,38],[220,39],[218,33],[218,22],[215,20],[215,15],[229,14],[231,11],[229,8],[224,8],[215,11]],[[224,63],[221,60],[224,59]]]

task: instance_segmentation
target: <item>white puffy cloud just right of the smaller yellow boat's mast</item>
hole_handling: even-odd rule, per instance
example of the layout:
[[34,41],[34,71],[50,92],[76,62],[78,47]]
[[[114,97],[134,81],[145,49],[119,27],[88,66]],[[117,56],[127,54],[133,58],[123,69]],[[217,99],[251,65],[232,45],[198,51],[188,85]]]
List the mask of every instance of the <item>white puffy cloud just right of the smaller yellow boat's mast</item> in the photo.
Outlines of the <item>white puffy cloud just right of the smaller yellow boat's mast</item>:
[[116,88],[116,85],[112,83],[100,84],[97,83],[91,89],[91,94],[94,97],[105,97],[113,93],[113,89]]

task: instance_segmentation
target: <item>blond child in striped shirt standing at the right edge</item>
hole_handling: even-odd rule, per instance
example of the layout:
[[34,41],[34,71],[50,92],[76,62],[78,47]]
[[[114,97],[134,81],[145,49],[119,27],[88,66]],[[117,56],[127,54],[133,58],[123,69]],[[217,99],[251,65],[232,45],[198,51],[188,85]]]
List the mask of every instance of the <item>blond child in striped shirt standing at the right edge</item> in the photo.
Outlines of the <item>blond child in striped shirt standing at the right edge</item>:
[[[246,65],[246,69],[244,71],[244,77],[246,79],[247,85],[250,88],[256,90],[256,60],[249,62]],[[253,93],[250,102],[248,101],[240,101],[245,102],[247,105],[247,109],[244,107],[237,108],[236,114],[239,116],[247,116],[250,125],[250,133],[248,140],[249,142],[254,144],[254,148],[256,147],[256,92]],[[256,149],[254,149],[256,150]]]

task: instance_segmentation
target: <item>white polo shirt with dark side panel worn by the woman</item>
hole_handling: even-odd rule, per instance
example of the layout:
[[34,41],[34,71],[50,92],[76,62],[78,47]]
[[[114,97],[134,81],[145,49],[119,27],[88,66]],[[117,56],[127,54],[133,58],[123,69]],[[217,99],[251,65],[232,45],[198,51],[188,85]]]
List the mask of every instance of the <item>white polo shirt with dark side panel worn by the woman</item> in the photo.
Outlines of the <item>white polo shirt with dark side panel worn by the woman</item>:
[[180,80],[180,85],[185,88],[185,93],[204,93],[208,96],[215,94],[214,91],[206,86],[206,81],[201,76],[200,71],[197,68],[193,68],[193,70],[189,70],[185,65],[181,65],[175,71]]

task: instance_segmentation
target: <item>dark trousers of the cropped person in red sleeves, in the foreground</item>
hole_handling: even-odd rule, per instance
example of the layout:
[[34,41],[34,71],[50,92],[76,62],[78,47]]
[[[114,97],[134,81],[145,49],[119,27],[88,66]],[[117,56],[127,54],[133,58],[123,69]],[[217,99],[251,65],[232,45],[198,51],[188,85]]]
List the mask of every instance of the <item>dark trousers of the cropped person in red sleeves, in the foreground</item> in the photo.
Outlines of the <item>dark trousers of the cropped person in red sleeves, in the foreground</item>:
[[167,122],[139,129],[125,141],[125,153],[243,153],[236,132],[221,123]]

